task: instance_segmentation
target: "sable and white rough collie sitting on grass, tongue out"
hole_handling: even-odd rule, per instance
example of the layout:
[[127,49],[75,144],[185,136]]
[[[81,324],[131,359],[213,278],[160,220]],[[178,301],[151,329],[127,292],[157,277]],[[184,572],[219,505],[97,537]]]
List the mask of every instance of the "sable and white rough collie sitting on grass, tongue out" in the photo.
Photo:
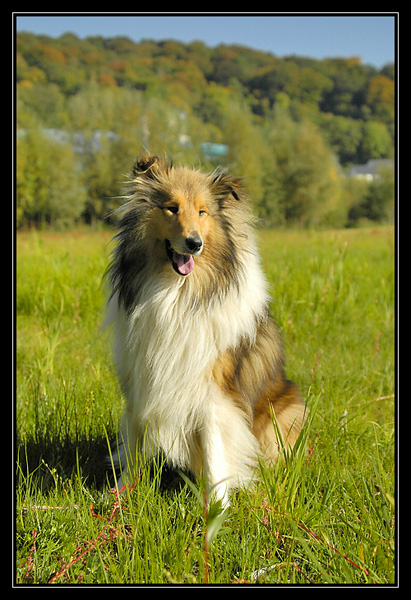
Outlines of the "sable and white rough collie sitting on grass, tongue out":
[[121,484],[162,451],[227,501],[259,456],[278,457],[276,430],[293,446],[305,412],[284,376],[246,197],[223,172],[143,156],[126,200],[108,306],[127,401]]

